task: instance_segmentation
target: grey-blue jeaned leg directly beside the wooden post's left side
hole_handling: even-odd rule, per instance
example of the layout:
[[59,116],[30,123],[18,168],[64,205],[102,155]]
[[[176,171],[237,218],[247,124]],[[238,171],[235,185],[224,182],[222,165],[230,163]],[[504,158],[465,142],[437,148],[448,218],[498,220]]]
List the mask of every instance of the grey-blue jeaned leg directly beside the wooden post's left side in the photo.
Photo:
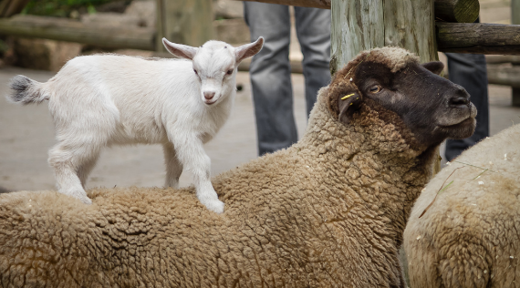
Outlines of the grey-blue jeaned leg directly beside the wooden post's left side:
[[317,90],[330,82],[330,10],[295,7],[296,34],[304,60],[307,117],[317,98]]

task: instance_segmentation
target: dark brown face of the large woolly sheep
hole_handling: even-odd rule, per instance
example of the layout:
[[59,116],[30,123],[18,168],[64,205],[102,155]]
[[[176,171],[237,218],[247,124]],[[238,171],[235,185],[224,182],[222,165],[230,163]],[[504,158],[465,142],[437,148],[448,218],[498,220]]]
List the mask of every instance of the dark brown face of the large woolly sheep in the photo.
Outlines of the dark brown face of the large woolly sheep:
[[[383,64],[365,61],[356,67],[352,81],[361,94],[358,101],[370,98],[394,111],[417,140],[431,146],[447,138],[470,137],[475,128],[476,108],[470,95],[438,76],[442,67],[441,62],[411,63],[392,73]],[[338,99],[340,112],[347,105],[348,101]]]

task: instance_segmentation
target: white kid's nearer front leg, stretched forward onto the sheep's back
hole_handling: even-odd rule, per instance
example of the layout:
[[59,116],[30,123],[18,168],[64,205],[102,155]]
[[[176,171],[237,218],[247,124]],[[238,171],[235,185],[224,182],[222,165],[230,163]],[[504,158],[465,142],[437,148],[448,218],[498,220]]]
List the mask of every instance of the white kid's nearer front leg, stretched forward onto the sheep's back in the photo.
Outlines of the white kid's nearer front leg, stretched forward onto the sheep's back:
[[199,201],[210,211],[224,212],[224,202],[218,200],[210,180],[211,159],[203,149],[202,139],[183,134],[182,139],[173,137],[173,145],[182,166],[193,174]]

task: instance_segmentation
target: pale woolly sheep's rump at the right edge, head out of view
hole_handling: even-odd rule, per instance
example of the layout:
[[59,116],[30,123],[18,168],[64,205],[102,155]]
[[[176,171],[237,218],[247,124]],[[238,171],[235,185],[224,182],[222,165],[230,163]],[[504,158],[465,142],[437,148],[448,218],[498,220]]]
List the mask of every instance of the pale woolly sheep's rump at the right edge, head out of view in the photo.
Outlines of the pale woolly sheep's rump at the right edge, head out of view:
[[411,287],[520,285],[519,143],[520,125],[484,139],[422,191],[403,236]]

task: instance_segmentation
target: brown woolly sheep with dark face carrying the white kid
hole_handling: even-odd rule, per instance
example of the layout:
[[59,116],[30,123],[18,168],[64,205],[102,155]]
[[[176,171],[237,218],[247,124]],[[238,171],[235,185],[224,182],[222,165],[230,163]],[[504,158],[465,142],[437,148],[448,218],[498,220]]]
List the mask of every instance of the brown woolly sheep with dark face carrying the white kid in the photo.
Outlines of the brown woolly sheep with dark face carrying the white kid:
[[447,137],[473,133],[462,87],[397,47],[363,52],[320,89],[289,149],[193,188],[0,195],[0,285],[403,287],[398,248]]

